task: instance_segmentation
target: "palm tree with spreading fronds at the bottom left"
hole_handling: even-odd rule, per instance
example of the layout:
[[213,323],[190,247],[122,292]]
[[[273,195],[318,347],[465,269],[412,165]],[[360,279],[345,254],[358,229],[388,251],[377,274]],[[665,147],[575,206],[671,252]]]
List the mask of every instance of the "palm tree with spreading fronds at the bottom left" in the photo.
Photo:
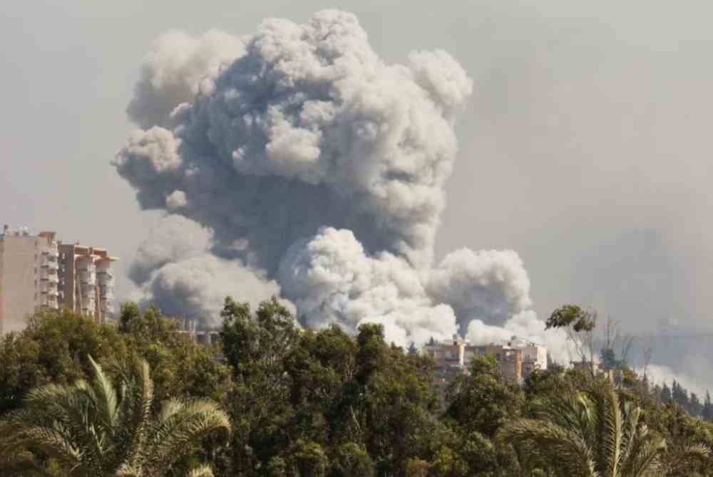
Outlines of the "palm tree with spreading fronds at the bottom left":
[[[0,468],[42,474],[29,450],[52,458],[68,476],[163,476],[209,434],[230,434],[217,404],[170,399],[154,416],[153,382],[144,360],[117,365],[118,386],[91,357],[89,381],[48,384],[0,421]],[[200,466],[190,477],[212,476]]]

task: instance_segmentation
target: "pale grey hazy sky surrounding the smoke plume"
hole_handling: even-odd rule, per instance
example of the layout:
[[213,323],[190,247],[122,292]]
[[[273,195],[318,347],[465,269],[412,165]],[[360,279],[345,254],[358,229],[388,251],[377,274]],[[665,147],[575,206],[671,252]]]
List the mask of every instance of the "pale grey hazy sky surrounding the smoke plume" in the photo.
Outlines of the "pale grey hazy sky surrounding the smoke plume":
[[[14,1],[0,11],[0,221],[130,262],[153,216],[109,161],[141,58],[170,29],[353,11],[386,61],[443,48],[475,80],[438,252],[513,248],[540,316],[713,329],[710,2]],[[118,294],[130,290],[120,276]]]

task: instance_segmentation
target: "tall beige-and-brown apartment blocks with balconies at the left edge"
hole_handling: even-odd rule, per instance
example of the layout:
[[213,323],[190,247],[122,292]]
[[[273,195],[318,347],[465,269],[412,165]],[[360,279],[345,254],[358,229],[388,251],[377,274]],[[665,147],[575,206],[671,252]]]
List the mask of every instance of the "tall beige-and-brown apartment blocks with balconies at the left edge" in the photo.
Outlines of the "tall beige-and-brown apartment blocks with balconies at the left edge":
[[0,334],[19,331],[41,308],[71,308],[98,323],[113,313],[111,262],[103,248],[64,245],[54,232],[0,235]]

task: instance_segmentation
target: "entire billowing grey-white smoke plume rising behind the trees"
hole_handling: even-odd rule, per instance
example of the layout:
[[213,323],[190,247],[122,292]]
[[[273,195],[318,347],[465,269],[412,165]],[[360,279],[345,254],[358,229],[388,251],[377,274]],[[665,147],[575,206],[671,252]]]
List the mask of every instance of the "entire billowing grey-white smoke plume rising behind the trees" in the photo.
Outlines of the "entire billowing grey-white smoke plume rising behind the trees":
[[171,215],[131,278],[145,300],[206,320],[218,295],[281,293],[306,326],[382,323],[403,345],[473,320],[540,337],[515,252],[433,263],[471,91],[444,51],[384,63],[340,11],[269,19],[244,38],[160,38],[128,110],[142,129],[113,164],[143,209]]

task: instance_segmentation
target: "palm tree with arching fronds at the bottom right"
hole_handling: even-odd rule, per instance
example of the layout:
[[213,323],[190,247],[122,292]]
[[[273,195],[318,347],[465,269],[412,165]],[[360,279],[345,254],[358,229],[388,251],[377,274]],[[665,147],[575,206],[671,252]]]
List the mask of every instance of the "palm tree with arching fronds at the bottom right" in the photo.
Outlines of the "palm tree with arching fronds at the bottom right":
[[[506,424],[500,437],[514,444],[525,468],[548,476],[663,476],[668,467],[661,462],[665,440],[648,431],[639,407],[620,401],[609,379],[560,389],[535,403],[534,419]],[[686,460],[707,454],[692,446]]]

